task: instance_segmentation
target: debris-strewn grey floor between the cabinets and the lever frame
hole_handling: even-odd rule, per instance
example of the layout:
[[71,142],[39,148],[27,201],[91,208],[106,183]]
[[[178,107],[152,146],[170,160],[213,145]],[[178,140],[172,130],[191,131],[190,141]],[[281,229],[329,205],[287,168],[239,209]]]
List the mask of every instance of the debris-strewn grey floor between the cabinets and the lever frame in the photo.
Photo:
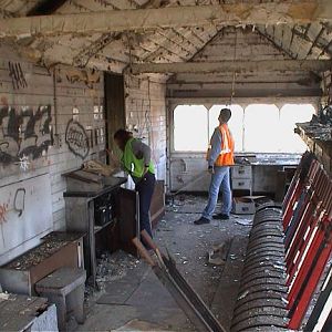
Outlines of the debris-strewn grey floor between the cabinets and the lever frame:
[[[177,198],[158,224],[155,240],[160,248],[168,249],[178,270],[227,326],[231,313],[226,313],[224,308],[237,297],[240,272],[231,268],[241,263],[239,252],[243,250],[238,249],[245,248],[250,230],[241,224],[248,224],[251,217],[232,216],[227,221],[195,226],[193,221],[199,217],[205,203],[205,198],[193,196]],[[226,264],[209,264],[207,252],[227,240],[232,241],[227,246],[230,251]],[[87,318],[79,331],[195,331],[144,261],[124,252],[104,255],[98,266],[98,286],[100,291],[87,290]]]

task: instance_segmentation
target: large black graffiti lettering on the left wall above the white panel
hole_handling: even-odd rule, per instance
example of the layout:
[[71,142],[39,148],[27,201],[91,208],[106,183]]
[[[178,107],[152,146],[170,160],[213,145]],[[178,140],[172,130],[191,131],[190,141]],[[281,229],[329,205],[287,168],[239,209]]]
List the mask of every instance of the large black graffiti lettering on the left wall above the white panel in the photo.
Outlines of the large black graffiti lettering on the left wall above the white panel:
[[0,106],[0,164],[18,164],[27,170],[52,145],[51,105],[20,110]]

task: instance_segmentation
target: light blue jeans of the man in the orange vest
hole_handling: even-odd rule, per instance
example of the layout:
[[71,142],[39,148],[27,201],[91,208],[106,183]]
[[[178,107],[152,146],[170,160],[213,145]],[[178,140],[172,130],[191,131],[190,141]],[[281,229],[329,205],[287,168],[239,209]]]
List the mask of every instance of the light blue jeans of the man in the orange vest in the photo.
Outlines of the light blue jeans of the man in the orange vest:
[[219,190],[222,193],[222,208],[221,214],[229,216],[231,210],[231,190],[229,167],[215,167],[215,174],[211,176],[211,183],[209,188],[209,199],[201,216],[211,219],[218,201]]

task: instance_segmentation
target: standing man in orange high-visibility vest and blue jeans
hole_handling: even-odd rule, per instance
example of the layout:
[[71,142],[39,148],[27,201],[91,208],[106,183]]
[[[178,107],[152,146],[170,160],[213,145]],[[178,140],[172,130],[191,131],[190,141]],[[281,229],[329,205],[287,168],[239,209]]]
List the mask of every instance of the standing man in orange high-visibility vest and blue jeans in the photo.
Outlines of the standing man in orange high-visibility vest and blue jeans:
[[231,117],[229,108],[222,108],[219,114],[219,126],[210,141],[210,147],[207,153],[208,170],[211,174],[208,204],[201,214],[201,217],[194,221],[195,225],[209,224],[215,211],[218,194],[221,187],[222,208],[221,212],[214,216],[215,219],[229,219],[231,209],[231,190],[229,166],[234,165],[234,138],[228,128],[228,121]]

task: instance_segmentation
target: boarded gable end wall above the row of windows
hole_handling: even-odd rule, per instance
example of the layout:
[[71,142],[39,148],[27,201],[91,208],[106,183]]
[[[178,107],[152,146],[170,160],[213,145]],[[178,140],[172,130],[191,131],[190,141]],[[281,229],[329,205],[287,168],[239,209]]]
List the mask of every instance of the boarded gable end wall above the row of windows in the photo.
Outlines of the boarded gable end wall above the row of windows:
[[[194,58],[194,62],[291,59],[251,28],[225,28]],[[232,89],[234,87],[234,89]],[[232,91],[234,90],[234,91]],[[167,82],[168,97],[272,97],[319,96],[318,75],[309,72],[259,71],[236,73],[184,73]]]

